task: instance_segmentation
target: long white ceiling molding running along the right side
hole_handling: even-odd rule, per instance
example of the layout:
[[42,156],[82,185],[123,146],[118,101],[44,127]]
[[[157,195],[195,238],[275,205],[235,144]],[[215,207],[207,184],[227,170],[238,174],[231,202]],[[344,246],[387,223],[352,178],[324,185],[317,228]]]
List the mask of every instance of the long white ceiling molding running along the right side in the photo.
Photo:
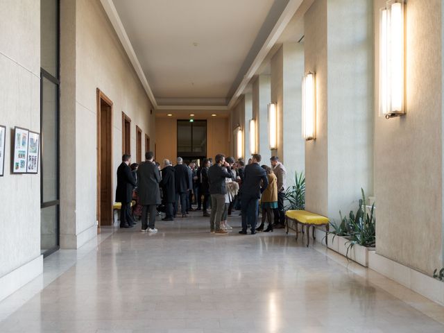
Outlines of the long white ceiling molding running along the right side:
[[241,81],[239,87],[237,87],[236,89],[236,92],[234,92],[232,98],[230,99],[230,103],[228,103],[228,109],[231,109],[234,106],[239,96],[241,96],[241,94],[244,92],[244,89],[250,82],[251,78],[253,78],[253,76],[256,74],[257,69],[261,67],[262,62],[265,60],[266,56],[268,55],[268,52],[273,48],[275,42],[278,41],[285,27],[291,21],[291,18],[296,14],[296,11],[300,7],[301,3],[302,0],[289,1],[287,7],[285,7],[284,11],[282,12],[282,15],[280,15],[280,18],[278,19],[278,22],[276,22],[270,35],[268,35],[268,38],[266,39],[264,45],[260,49],[259,53],[257,53],[257,56],[253,61],[253,63],[251,64],[250,68],[248,69],[246,75],[244,76],[244,79]]

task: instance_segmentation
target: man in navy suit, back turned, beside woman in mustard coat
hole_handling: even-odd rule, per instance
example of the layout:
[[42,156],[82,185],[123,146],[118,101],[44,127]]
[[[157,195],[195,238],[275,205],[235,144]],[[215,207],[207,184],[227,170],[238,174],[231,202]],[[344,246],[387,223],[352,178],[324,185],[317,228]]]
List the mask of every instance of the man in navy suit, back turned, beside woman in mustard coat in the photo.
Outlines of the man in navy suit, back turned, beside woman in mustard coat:
[[[242,230],[239,234],[247,234],[248,224],[251,227],[251,234],[256,233],[257,210],[259,208],[259,198],[261,193],[268,186],[265,169],[259,165],[262,157],[253,154],[251,164],[245,167],[245,178],[242,184]],[[261,187],[262,180],[262,187]]]

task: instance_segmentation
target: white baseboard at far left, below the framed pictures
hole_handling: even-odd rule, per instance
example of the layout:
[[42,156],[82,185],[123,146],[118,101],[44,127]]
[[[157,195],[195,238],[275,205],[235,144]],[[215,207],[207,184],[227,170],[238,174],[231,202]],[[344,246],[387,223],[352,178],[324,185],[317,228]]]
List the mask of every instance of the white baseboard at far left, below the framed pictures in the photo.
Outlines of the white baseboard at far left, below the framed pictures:
[[22,288],[28,282],[43,273],[43,255],[31,260],[16,268],[14,271],[3,275],[0,278],[0,300],[10,296],[10,294]]

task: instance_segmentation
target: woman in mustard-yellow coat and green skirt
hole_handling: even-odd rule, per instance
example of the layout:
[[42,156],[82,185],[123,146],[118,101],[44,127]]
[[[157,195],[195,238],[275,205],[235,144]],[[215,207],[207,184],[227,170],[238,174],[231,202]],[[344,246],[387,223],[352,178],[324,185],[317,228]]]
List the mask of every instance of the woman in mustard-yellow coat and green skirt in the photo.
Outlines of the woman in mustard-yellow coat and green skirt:
[[261,196],[262,223],[256,231],[264,230],[265,220],[267,220],[268,225],[264,232],[273,232],[271,213],[278,208],[278,178],[273,173],[273,170],[271,170],[271,167],[262,165],[262,169],[265,169],[266,178],[268,179],[268,187]]

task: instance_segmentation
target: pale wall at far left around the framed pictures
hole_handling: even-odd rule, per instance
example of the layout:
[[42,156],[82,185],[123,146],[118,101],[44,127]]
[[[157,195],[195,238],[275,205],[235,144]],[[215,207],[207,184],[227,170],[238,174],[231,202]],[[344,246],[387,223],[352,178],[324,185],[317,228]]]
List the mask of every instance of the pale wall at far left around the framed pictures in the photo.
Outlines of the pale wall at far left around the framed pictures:
[[[0,177],[0,300],[42,272],[40,172],[11,174],[15,126],[40,132],[40,1],[0,1],[0,125],[6,126]],[[37,262],[37,264],[32,264]],[[19,267],[31,267],[14,275]]]

